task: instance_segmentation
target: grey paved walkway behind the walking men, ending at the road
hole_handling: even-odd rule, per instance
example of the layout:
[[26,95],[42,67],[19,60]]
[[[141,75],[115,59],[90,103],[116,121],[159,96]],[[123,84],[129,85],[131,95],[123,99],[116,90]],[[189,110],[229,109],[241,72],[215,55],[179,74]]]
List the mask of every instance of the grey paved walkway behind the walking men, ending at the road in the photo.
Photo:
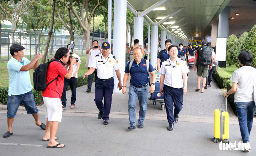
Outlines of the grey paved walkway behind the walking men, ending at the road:
[[[202,83],[202,80],[201,80]],[[98,114],[94,101],[95,88],[93,83],[93,88],[90,93],[87,93],[87,85],[78,87],[76,89],[76,102],[75,108],[70,108],[70,98],[71,90],[67,91],[67,108],[63,109],[63,112],[75,112],[75,113],[95,113]],[[129,86],[128,83],[126,86]],[[202,86],[202,85],[201,85]],[[196,72],[190,70],[187,86],[187,94],[183,97],[183,108],[179,114],[179,121],[188,122],[205,122],[213,123],[214,109],[225,109],[225,98],[221,94],[220,88],[217,86],[215,81],[211,82],[211,87],[205,89],[204,93],[200,91],[194,91],[197,87],[197,75]],[[128,90],[127,94],[113,93],[112,96],[112,106],[111,106],[111,116],[116,116],[118,118],[128,117]],[[148,98],[150,94],[148,94]],[[137,100],[136,113],[139,115],[139,101]],[[5,105],[0,106],[6,107]],[[23,108],[23,109],[22,109]],[[39,111],[45,112],[45,106],[38,106]],[[20,107],[19,110],[25,110],[24,107]],[[42,113],[43,113],[42,112]],[[238,120],[230,105],[228,104],[228,112],[230,114],[230,124],[238,124]],[[156,106],[153,105],[153,101],[148,100],[146,119],[156,119],[156,120],[166,120],[166,110],[161,110],[161,105],[157,102]],[[127,121],[127,124],[129,121]],[[256,125],[256,124],[255,124]]]

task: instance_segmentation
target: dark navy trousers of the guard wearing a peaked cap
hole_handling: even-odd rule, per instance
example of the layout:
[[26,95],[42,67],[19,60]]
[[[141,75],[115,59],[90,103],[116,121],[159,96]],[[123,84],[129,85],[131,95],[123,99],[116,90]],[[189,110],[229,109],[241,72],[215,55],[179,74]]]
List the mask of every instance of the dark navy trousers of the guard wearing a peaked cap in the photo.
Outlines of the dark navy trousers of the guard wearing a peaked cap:
[[[108,120],[111,103],[112,103],[112,94],[114,90],[114,79],[110,81],[101,81],[100,79],[97,79],[95,82],[95,104],[99,111],[103,112],[102,119]],[[102,102],[102,99],[104,97],[104,104]]]

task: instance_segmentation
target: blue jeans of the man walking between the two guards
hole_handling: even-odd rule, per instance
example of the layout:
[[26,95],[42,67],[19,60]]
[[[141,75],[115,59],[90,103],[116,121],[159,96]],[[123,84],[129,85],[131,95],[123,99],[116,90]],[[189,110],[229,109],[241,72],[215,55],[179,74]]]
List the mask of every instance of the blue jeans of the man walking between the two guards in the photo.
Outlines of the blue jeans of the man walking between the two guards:
[[147,103],[148,103],[148,85],[145,87],[135,87],[133,85],[130,85],[129,88],[129,120],[130,125],[135,126],[136,125],[136,100],[139,99],[140,104],[140,113],[139,113],[139,119],[138,122],[144,122],[146,111],[147,111]]

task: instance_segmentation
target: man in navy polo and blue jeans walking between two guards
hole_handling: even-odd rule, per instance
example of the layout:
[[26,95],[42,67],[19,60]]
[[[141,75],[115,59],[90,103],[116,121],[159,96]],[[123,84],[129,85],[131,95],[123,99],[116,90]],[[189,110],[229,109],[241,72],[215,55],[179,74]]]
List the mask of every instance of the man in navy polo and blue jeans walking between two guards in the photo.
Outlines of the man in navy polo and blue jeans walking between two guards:
[[[123,77],[123,94],[126,93],[126,82],[129,76],[131,75],[130,80],[130,88],[129,88],[129,120],[130,126],[128,129],[135,129],[136,125],[136,100],[139,99],[140,104],[140,113],[139,113],[139,128],[143,128],[143,122],[145,119],[146,111],[147,111],[147,103],[148,103],[148,82],[149,82],[149,72],[152,76],[152,84],[150,86],[151,93],[155,90],[155,81],[156,75],[153,66],[145,59],[142,58],[142,50],[140,48],[135,48],[133,50],[134,59],[128,62],[124,77]],[[132,66],[130,68],[130,63],[132,62]]]

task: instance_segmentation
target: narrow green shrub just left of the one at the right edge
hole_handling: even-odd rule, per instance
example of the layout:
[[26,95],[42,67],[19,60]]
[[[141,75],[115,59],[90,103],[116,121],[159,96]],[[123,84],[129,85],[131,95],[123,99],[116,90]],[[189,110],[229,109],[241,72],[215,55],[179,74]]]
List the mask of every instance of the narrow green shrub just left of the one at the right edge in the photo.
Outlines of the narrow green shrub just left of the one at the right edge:
[[248,36],[247,32],[244,32],[238,39],[238,41],[236,42],[236,44],[234,44],[234,46],[231,48],[230,50],[230,62],[231,64],[239,67],[238,65],[238,54],[242,51],[241,47],[242,44],[244,44],[245,38]]

